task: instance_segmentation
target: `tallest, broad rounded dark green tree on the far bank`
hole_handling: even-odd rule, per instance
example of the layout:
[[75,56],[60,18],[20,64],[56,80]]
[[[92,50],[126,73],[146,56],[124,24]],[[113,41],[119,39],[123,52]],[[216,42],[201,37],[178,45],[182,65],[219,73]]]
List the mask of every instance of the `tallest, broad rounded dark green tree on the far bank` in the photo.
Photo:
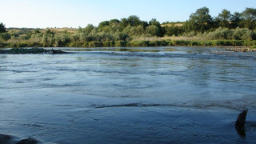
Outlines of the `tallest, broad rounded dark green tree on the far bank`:
[[213,19],[209,14],[207,7],[202,7],[196,10],[195,13],[190,14],[190,19],[186,21],[186,29],[188,31],[205,32],[210,30],[213,24]]

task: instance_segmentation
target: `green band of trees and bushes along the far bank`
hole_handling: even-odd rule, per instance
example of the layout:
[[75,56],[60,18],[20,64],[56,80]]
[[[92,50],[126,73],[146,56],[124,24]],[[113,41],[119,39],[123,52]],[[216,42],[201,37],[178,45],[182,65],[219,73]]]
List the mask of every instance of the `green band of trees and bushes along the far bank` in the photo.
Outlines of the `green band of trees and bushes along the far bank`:
[[[100,22],[78,29],[8,29],[0,24],[0,47],[22,46],[219,46],[254,45],[256,9],[231,14],[222,10],[217,17],[207,7],[190,14],[186,22],[149,22],[138,16]],[[175,40],[172,38],[177,37]],[[190,42],[178,37],[194,38]],[[153,40],[145,40],[151,38]],[[158,38],[164,38],[158,40]],[[140,40],[138,40],[140,39]],[[156,40],[157,39],[157,40]],[[206,44],[208,41],[208,44]],[[228,44],[225,44],[225,43]],[[159,44],[162,43],[162,44]],[[178,44],[177,44],[178,43]]]

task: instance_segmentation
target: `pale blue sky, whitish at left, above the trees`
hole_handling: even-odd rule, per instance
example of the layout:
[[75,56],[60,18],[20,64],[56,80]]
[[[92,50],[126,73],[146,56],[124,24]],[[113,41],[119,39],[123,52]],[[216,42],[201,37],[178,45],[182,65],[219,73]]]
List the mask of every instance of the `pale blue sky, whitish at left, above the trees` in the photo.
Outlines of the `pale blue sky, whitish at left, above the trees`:
[[212,17],[223,9],[242,12],[256,0],[0,0],[0,22],[6,27],[86,27],[137,15],[143,21],[184,22],[206,6]]

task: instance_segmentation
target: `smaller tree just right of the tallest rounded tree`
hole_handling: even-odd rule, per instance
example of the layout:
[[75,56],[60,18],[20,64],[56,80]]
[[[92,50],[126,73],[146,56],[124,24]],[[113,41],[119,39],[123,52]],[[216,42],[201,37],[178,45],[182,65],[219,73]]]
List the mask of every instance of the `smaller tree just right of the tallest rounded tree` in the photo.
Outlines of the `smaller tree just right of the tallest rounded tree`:
[[218,14],[217,22],[218,26],[230,27],[231,13],[229,10],[222,10],[222,13]]

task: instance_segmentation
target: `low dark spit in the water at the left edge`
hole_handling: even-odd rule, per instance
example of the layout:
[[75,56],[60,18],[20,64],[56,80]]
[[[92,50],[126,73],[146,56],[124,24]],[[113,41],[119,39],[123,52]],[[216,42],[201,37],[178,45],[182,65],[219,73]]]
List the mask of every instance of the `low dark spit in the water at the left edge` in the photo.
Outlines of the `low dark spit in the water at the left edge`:
[[12,48],[10,50],[0,50],[0,54],[66,54],[62,50],[46,50],[43,48]]

